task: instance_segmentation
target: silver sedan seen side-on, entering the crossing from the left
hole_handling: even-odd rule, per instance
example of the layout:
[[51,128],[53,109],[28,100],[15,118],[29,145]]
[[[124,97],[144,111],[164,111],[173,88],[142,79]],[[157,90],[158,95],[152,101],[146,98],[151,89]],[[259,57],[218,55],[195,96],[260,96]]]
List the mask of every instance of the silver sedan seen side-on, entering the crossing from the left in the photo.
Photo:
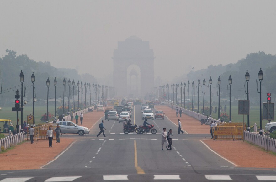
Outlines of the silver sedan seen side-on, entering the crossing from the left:
[[72,121],[59,121],[53,124],[56,126],[59,124],[62,133],[74,133],[79,135],[89,134],[89,129],[87,127],[79,126]]

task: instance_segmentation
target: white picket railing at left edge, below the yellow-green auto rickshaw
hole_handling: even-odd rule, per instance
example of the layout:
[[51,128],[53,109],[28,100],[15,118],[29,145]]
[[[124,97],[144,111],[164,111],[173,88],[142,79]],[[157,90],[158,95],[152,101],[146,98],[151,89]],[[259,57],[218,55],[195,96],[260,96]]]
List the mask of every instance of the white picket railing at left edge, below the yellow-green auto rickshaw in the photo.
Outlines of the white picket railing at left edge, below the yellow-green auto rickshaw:
[[9,135],[7,137],[0,139],[0,152],[2,151],[2,147],[4,147],[4,150],[7,150],[11,148],[12,146],[15,146],[25,140],[25,133],[20,132],[15,135]]

